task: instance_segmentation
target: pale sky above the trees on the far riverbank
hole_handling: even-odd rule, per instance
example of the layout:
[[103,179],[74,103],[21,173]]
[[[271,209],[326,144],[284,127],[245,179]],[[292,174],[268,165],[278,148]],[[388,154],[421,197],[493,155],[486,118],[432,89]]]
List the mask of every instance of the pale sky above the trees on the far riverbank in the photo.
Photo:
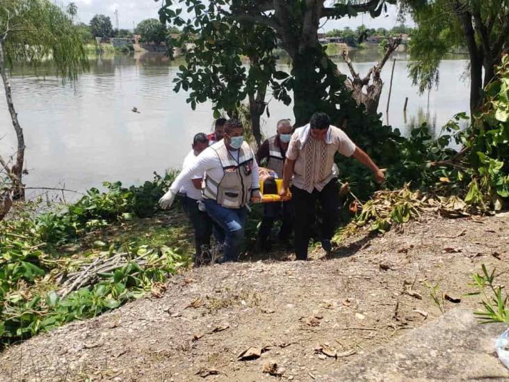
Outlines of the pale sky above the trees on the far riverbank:
[[[70,2],[65,0],[61,3],[65,7]],[[154,0],[74,0],[74,3],[78,6],[79,21],[88,24],[95,14],[102,13],[111,17],[113,28],[115,28],[115,9],[118,9],[118,24],[121,29],[133,29],[133,23],[138,24],[141,20],[151,17],[157,18],[157,11],[161,6],[161,1]],[[345,26],[355,29],[363,23],[368,28],[391,29],[399,24],[396,20],[397,15],[398,7],[388,6],[387,15],[382,14],[375,19],[366,14],[351,19],[345,17],[339,20],[328,20],[324,22],[321,30],[343,29]]]

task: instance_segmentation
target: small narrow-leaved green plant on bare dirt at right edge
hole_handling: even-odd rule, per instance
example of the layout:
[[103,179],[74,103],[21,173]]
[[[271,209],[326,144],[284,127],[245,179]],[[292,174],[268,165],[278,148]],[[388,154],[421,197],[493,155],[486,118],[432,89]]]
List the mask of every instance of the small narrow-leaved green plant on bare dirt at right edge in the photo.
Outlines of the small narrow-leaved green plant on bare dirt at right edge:
[[509,306],[508,296],[502,293],[503,286],[495,283],[495,269],[488,272],[485,264],[481,266],[483,273],[475,273],[473,286],[477,292],[470,295],[480,295],[483,297],[480,304],[483,310],[476,310],[474,315],[480,320],[481,324],[491,324],[494,322],[504,322],[509,324]]

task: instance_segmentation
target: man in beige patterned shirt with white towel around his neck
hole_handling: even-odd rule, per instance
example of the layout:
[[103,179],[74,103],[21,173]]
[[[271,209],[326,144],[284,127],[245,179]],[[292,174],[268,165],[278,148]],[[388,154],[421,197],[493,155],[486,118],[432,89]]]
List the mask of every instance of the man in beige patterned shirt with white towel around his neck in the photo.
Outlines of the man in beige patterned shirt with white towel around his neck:
[[384,171],[341,129],[331,126],[327,114],[314,113],[308,125],[296,129],[286,150],[280,195],[286,195],[292,181],[297,260],[307,260],[317,200],[322,206],[321,244],[326,252],[332,250],[330,240],[339,220],[339,186],[337,174],[333,172],[336,152],[345,157],[354,157],[371,168],[377,182],[385,180]]

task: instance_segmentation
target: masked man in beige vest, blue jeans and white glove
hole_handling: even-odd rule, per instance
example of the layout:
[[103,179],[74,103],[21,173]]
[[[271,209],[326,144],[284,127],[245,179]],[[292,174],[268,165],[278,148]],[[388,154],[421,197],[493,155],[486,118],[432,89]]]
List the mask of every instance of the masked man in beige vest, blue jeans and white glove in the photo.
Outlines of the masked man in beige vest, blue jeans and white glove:
[[251,148],[243,141],[241,122],[228,120],[223,140],[209,146],[182,170],[159,204],[169,208],[182,182],[204,173],[203,202],[207,214],[221,228],[216,239],[224,245],[223,262],[237,261],[248,216],[245,206],[260,200],[258,170]]

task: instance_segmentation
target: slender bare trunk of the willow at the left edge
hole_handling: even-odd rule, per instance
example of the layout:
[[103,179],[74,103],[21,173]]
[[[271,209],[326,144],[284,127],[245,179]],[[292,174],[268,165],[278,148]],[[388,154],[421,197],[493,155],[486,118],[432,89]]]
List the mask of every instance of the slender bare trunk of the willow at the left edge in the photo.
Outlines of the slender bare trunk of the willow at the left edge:
[[14,107],[13,95],[10,91],[10,80],[6,72],[5,53],[3,51],[3,40],[0,39],[0,75],[2,77],[3,86],[6,91],[7,107],[10,113],[10,118],[13,121],[13,127],[17,137],[17,152],[15,164],[12,168],[6,168],[6,171],[13,182],[13,199],[22,200],[25,197],[24,184],[22,183],[24,154],[25,154],[25,141],[23,136],[23,129],[19,125],[17,113]]

